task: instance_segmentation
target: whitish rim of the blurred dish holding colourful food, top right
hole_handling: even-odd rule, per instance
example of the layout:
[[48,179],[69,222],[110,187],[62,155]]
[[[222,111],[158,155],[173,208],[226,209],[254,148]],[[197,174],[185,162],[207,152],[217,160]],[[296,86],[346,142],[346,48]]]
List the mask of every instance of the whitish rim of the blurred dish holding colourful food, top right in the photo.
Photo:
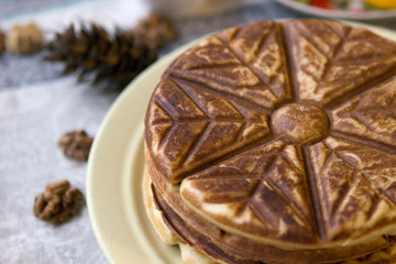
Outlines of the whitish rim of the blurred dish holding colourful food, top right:
[[348,19],[348,20],[384,20],[396,18],[396,10],[375,10],[375,11],[348,11],[348,10],[333,10],[311,7],[294,0],[276,0],[277,2],[300,11],[302,13],[322,16],[328,19]]

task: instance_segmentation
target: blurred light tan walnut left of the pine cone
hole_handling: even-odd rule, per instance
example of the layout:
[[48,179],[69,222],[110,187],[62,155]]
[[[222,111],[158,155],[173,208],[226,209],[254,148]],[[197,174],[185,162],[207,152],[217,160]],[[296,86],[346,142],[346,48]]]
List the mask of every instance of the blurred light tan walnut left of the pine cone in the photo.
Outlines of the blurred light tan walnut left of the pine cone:
[[15,24],[6,37],[7,50],[14,54],[29,54],[40,51],[43,46],[43,34],[34,24]]

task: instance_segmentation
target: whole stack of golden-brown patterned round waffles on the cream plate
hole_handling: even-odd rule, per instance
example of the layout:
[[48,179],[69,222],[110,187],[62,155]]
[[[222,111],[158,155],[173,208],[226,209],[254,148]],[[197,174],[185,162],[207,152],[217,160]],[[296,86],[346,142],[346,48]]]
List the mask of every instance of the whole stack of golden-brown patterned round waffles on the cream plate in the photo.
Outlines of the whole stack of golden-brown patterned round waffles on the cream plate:
[[320,20],[208,37],[155,89],[145,161],[184,263],[396,263],[396,43]]

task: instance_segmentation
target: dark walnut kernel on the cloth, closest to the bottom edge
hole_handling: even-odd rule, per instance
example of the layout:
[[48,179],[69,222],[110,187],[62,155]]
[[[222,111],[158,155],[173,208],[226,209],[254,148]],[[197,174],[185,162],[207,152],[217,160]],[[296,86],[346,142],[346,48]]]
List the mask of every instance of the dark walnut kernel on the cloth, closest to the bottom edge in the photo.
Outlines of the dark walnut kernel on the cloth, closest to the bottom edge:
[[35,198],[33,212],[43,221],[58,224],[77,215],[81,201],[81,191],[70,187],[69,182],[61,180],[47,185],[45,191]]

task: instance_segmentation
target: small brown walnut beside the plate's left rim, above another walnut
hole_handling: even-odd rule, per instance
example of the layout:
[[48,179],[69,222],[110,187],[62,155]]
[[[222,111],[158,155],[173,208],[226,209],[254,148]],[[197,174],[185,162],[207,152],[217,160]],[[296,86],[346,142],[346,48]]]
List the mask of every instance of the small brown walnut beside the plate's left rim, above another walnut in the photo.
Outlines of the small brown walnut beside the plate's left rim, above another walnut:
[[72,158],[87,161],[94,138],[87,135],[84,130],[72,131],[58,141],[58,145],[63,153]]

